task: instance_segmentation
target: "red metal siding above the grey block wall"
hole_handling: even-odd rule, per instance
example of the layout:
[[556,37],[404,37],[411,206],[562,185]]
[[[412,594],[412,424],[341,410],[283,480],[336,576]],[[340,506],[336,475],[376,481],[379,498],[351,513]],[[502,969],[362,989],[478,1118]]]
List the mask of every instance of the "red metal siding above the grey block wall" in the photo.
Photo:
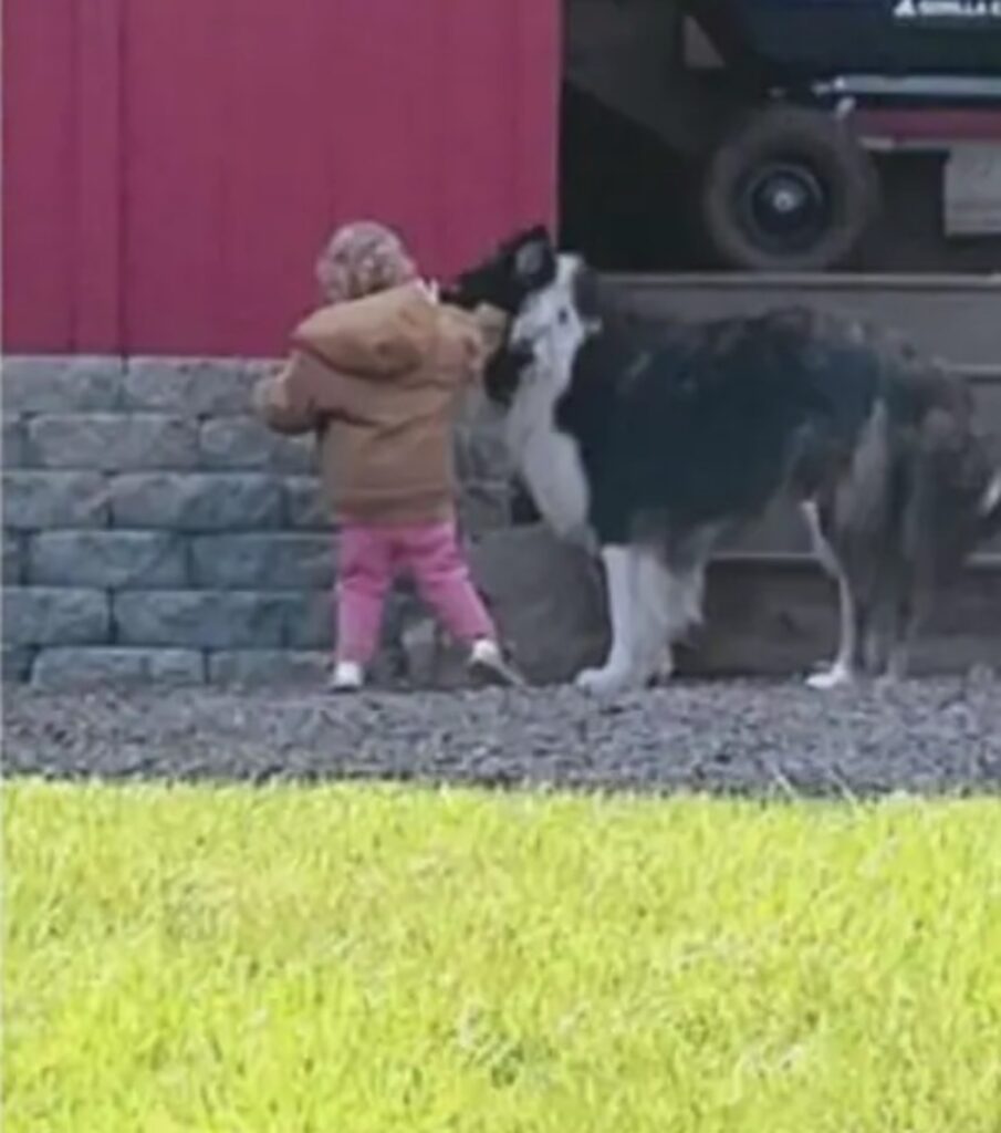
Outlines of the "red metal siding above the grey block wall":
[[270,353],[327,229],[555,208],[558,0],[6,0],[11,351]]

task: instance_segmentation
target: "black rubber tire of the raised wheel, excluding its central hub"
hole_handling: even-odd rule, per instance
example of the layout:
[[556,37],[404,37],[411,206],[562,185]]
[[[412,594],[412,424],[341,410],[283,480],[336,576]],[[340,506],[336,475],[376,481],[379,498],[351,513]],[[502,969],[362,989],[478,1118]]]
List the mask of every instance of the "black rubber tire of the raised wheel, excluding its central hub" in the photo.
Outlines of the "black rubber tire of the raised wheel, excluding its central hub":
[[[819,231],[802,245],[769,245],[744,211],[747,182],[772,163],[803,169],[823,193]],[[770,107],[754,111],[713,151],[701,207],[712,250],[729,267],[823,271],[856,252],[879,210],[879,176],[850,129],[823,111]]]

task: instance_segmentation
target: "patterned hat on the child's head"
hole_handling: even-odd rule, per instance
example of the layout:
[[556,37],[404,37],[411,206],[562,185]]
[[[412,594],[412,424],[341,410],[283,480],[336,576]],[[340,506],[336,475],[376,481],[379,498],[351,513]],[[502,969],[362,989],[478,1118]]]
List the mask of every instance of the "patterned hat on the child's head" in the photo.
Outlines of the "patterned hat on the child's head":
[[316,263],[327,303],[360,299],[417,278],[417,265],[400,237],[385,224],[360,220],[339,228]]

